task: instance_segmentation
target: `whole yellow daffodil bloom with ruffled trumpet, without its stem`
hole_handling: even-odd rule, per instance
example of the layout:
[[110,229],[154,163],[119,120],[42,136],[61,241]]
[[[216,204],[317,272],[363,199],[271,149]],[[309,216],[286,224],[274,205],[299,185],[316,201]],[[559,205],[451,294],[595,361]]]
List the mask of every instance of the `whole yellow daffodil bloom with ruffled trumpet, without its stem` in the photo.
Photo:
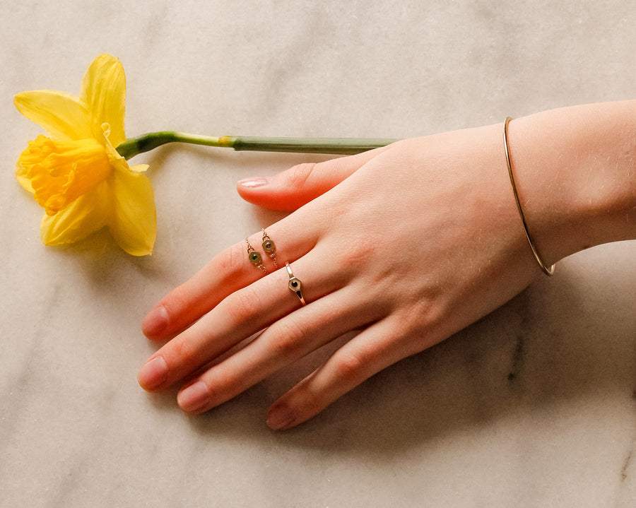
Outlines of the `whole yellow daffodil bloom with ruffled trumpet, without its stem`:
[[126,140],[126,78],[117,58],[97,57],[79,97],[56,90],[19,93],[13,102],[44,127],[18,158],[16,177],[45,208],[42,242],[77,242],[107,227],[124,251],[151,254],[155,201],[147,165],[129,167],[116,147]]

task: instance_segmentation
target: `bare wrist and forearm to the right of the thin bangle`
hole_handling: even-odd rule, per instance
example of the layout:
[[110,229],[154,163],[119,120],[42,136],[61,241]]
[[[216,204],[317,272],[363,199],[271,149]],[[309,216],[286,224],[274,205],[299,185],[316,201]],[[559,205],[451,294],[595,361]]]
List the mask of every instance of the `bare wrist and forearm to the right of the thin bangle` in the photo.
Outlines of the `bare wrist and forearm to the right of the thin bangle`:
[[508,136],[519,199],[546,264],[636,239],[636,101],[522,117]]

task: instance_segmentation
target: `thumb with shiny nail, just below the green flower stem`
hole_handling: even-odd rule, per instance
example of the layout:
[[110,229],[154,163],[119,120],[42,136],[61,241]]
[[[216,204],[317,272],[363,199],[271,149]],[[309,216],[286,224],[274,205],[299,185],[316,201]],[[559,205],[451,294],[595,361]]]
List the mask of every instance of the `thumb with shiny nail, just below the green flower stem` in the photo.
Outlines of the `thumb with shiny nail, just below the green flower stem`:
[[271,210],[293,211],[335,187],[387,147],[326,160],[298,164],[270,177],[255,177],[237,183],[240,196]]

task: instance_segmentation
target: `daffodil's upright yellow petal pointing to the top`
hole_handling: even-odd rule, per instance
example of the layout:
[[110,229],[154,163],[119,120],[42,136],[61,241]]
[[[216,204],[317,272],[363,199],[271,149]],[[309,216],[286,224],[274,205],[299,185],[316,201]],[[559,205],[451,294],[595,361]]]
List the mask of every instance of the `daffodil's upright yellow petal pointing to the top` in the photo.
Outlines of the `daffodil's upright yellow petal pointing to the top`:
[[86,102],[97,129],[94,136],[102,132],[102,124],[110,126],[110,142],[119,146],[126,141],[124,134],[124,112],[126,109],[126,76],[119,59],[102,54],[88,67],[82,78],[81,100]]

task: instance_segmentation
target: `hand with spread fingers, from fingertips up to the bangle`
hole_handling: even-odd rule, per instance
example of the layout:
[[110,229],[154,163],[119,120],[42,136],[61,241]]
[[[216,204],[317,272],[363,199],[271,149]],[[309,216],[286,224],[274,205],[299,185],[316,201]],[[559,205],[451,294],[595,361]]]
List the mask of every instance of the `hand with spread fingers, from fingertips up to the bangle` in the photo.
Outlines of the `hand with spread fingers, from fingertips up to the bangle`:
[[[268,425],[286,429],[510,300],[540,271],[502,150],[497,124],[243,182],[248,201],[294,210],[266,228],[282,269],[263,256],[265,275],[240,242],[164,297],[143,332],[172,340],[141,367],[139,383],[182,384],[179,406],[201,413],[361,329],[269,408]],[[260,248],[260,233],[249,242]],[[306,307],[288,289],[285,262]]]

